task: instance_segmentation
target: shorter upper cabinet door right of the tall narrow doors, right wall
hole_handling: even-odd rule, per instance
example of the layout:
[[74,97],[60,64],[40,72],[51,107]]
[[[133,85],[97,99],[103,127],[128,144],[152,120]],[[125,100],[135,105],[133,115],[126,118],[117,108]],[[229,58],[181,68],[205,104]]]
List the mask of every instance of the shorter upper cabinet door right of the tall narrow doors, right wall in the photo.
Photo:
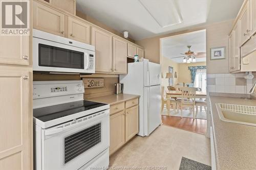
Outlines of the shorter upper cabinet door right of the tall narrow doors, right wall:
[[250,1],[247,1],[238,18],[240,45],[244,44],[250,38],[251,20],[250,20]]

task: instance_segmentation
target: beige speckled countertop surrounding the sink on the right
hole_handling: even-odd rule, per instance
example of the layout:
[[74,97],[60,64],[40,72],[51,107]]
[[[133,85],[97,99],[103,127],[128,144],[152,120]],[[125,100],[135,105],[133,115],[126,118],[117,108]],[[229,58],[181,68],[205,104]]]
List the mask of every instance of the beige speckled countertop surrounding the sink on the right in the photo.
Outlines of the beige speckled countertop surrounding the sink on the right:
[[216,103],[256,106],[256,100],[210,94],[217,169],[256,169],[256,127],[224,122]]

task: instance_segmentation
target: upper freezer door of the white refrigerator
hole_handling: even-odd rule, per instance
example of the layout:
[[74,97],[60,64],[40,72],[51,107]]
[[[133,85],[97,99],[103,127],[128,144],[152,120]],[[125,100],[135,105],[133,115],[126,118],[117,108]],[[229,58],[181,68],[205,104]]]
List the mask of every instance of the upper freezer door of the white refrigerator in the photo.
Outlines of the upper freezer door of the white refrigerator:
[[149,79],[150,79],[150,85],[160,85],[160,72],[161,72],[161,66],[160,64],[148,62],[148,71],[149,71]]

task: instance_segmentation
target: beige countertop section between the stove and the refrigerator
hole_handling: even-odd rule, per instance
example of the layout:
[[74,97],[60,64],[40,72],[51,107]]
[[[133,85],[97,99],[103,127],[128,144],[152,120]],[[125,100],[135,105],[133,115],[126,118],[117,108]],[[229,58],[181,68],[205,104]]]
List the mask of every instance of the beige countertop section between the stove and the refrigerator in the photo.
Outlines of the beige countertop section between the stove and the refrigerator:
[[90,98],[90,99],[86,99],[86,100],[115,105],[115,104],[118,104],[121,102],[130,101],[132,99],[136,99],[139,97],[140,97],[140,95],[134,95],[134,94],[118,94],[118,95],[111,94],[111,95],[100,96],[97,98]]

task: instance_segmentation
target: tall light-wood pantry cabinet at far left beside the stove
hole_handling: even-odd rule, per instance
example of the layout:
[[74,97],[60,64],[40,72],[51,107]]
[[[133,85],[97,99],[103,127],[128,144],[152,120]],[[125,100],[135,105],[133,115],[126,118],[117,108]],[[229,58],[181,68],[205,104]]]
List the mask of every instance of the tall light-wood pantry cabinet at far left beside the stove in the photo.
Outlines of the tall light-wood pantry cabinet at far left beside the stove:
[[33,169],[30,35],[0,36],[0,169]]

